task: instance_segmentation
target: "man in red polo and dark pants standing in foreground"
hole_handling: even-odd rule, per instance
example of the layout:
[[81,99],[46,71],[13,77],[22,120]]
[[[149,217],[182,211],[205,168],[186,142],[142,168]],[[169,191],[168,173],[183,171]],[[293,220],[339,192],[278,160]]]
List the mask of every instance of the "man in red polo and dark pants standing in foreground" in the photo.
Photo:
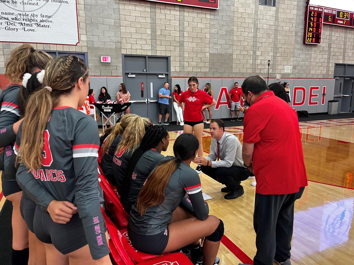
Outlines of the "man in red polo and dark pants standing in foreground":
[[246,78],[242,93],[251,105],[244,118],[242,159],[257,180],[253,262],[290,265],[294,202],[307,186],[298,118],[284,100],[268,91],[261,76]]

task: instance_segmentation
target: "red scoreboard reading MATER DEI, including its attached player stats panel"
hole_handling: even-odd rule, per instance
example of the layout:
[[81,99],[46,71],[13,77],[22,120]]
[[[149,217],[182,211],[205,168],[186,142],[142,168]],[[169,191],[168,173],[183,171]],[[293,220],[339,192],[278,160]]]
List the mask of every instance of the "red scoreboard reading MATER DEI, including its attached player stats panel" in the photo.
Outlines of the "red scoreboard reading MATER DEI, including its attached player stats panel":
[[354,10],[354,1],[309,0],[307,3],[309,5],[305,12],[304,43],[321,44],[323,24],[354,28],[354,11],[335,8],[338,5]]

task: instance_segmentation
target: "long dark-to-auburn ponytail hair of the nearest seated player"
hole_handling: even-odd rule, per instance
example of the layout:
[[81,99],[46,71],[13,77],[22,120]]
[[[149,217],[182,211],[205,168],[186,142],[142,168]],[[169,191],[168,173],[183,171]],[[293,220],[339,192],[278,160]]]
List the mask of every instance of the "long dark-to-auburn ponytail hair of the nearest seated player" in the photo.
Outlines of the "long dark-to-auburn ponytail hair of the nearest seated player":
[[138,211],[141,216],[146,210],[165,201],[165,189],[172,173],[182,161],[195,158],[199,142],[193,134],[182,134],[173,145],[175,158],[162,161],[147,178],[144,187],[138,195]]

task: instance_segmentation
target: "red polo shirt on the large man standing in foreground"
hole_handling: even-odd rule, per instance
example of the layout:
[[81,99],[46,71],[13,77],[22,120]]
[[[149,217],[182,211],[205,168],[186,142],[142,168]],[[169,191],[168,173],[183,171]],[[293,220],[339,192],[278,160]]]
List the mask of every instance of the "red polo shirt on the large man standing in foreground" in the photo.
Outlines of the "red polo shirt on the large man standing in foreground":
[[256,193],[290,194],[307,186],[297,115],[273,91],[260,95],[246,111],[243,141],[255,143]]

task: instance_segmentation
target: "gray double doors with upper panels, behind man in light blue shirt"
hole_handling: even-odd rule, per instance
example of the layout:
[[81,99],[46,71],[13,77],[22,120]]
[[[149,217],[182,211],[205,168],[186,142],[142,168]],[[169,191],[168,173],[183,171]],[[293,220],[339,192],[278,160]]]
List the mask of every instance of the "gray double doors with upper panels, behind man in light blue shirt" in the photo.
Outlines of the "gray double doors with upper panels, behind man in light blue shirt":
[[[123,61],[123,83],[130,92],[132,102],[130,112],[148,117],[157,124],[159,89],[170,80],[169,57],[123,55]],[[171,103],[170,99],[170,106]]]

